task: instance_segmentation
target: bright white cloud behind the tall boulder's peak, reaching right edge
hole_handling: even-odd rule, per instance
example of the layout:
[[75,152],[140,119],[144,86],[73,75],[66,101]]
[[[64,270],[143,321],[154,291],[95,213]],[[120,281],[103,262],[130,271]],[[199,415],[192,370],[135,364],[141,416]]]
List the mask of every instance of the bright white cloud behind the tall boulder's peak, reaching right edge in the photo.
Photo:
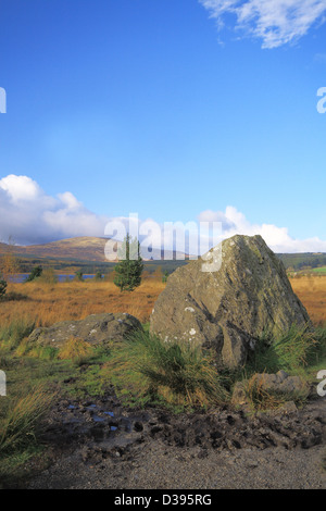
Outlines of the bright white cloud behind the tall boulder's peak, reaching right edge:
[[[199,221],[214,222],[216,219],[225,219],[223,222],[222,238],[226,239],[236,234],[254,236],[260,234],[268,247],[277,253],[281,252],[326,252],[326,241],[318,237],[294,239],[289,235],[287,227],[277,227],[273,224],[251,224],[243,213],[228,205],[225,212],[204,211],[199,214]],[[225,227],[227,222],[231,225]]]

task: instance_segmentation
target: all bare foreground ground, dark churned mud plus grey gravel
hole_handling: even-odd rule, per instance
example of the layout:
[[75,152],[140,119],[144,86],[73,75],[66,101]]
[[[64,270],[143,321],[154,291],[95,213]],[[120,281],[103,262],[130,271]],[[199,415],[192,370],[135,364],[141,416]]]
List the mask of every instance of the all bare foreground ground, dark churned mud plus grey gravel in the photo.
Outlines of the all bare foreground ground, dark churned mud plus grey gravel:
[[30,489],[326,488],[326,398],[248,416],[220,408],[130,410],[113,391],[61,400],[47,417],[48,465]]

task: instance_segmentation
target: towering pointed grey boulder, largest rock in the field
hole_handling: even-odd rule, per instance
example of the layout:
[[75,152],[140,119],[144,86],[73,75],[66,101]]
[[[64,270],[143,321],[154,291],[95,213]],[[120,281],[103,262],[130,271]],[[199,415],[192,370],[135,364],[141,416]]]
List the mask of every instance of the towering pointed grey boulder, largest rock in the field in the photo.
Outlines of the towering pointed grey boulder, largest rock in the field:
[[211,263],[205,256],[168,277],[150,317],[152,334],[213,349],[237,366],[263,333],[277,336],[310,323],[284,264],[261,236],[236,235],[209,256]]

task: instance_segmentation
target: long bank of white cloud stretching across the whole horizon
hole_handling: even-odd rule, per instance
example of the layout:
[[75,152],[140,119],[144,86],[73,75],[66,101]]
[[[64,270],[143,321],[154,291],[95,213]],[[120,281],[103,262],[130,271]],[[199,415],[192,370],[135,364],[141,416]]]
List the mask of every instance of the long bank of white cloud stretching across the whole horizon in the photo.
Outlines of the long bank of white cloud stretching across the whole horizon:
[[[231,205],[225,211],[202,211],[197,220],[222,223],[222,236],[214,245],[235,234],[260,234],[275,252],[326,252],[326,241],[317,237],[294,239],[287,227],[251,224],[243,213]],[[163,244],[165,224],[158,224],[152,219],[142,221],[137,214],[129,217],[99,216],[85,208],[70,191],[51,197],[30,177],[9,175],[0,179],[0,241],[12,238],[20,245],[33,245],[75,236],[110,236],[112,233],[105,233],[109,222],[115,222],[113,225],[123,224],[133,236],[138,232],[141,240],[151,239],[153,248],[160,248]],[[201,234],[201,246],[208,247],[205,242],[209,244],[210,233],[201,232],[198,224],[174,222],[173,225],[180,237],[185,233],[183,228],[193,228],[193,232]],[[171,250],[173,241],[168,238],[166,241],[165,249]],[[185,249],[187,251],[187,242]],[[160,251],[156,254],[160,256]]]

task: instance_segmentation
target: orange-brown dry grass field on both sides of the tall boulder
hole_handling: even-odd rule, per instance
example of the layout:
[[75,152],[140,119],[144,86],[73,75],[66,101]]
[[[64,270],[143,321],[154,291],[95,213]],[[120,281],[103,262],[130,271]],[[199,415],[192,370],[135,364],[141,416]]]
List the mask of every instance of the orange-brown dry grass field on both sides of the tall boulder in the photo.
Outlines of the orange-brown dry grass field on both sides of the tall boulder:
[[[293,277],[290,282],[314,324],[326,324],[326,276]],[[145,278],[133,292],[121,292],[112,282],[92,279],[54,285],[9,284],[8,297],[16,299],[0,303],[0,323],[28,317],[37,326],[49,326],[101,312],[128,312],[146,323],[164,287],[160,277]]]

